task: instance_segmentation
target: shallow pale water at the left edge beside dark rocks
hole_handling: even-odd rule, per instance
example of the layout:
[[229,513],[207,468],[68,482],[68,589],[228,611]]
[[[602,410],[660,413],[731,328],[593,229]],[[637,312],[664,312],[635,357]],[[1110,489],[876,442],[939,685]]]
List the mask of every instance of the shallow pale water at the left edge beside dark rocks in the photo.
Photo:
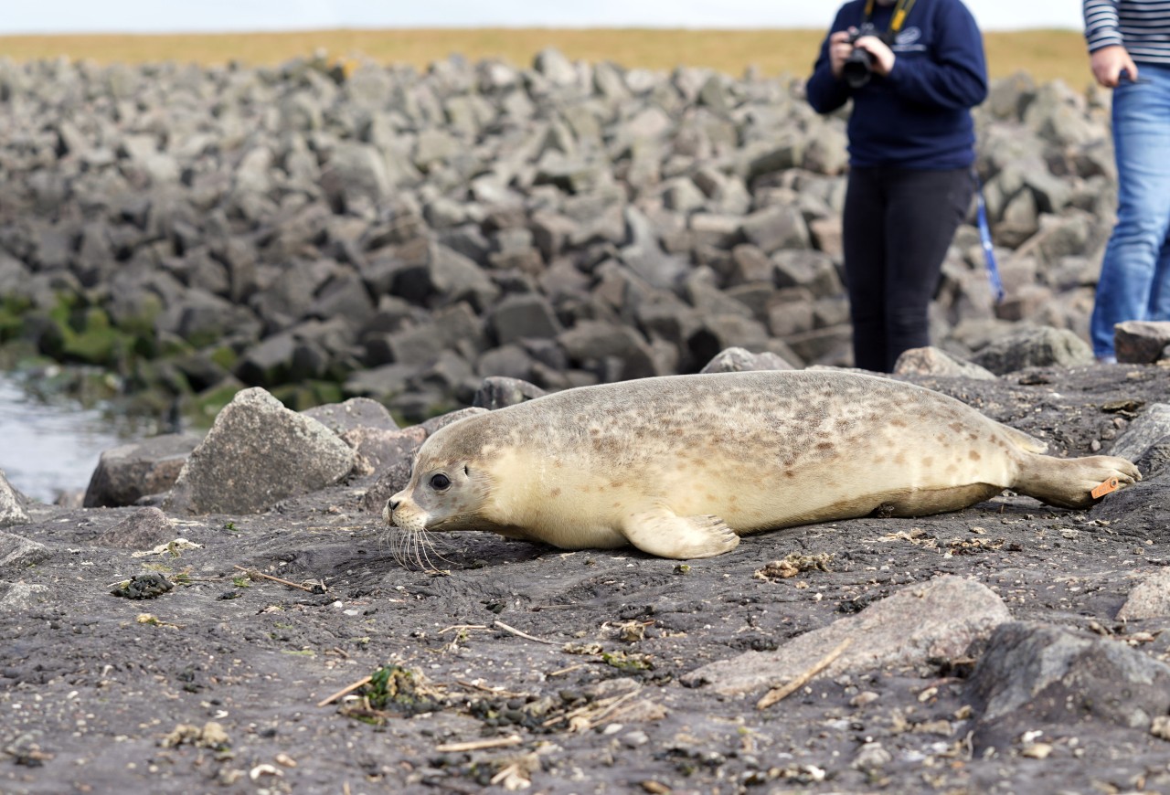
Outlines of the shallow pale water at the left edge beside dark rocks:
[[142,424],[76,399],[39,396],[0,373],[0,470],[28,497],[51,503],[84,491],[103,450],[151,435]]

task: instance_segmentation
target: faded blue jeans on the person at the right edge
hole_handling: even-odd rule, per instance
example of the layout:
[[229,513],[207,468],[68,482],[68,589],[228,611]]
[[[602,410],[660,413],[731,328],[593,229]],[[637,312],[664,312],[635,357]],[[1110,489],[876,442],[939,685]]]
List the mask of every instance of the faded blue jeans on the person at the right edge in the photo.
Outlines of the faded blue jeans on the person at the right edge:
[[1101,263],[1090,336],[1113,355],[1113,326],[1170,320],[1170,68],[1138,64],[1113,92],[1117,224]]

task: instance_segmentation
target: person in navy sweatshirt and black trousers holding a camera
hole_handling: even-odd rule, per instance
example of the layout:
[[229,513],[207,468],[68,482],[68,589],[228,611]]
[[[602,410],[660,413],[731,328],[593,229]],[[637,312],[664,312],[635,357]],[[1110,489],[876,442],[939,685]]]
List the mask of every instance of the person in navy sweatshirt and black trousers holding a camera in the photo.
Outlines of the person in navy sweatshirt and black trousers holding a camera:
[[819,113],[853,101],[842,219],[853,359],[892,372],[930,344],[930,300],[975,192],[983,35],[961,0],[852,0],[805,91]]

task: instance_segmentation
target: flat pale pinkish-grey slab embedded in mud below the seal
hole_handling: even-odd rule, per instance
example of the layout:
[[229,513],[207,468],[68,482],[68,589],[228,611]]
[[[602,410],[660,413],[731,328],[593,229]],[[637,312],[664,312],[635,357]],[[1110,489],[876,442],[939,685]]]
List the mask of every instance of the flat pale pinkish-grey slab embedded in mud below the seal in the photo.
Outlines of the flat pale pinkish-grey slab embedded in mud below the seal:
[[916,668],[931,658],[962,657],[968,647],[1010,621],[1003,601],[986,586],[941,576],[907,586],[855,616],[805,632],[776,651],[748,651],[702,665],[682,677],[721,694],[741,694],[792,679],[825,655],[849,644],[825,668],[825,678],[883,669]]

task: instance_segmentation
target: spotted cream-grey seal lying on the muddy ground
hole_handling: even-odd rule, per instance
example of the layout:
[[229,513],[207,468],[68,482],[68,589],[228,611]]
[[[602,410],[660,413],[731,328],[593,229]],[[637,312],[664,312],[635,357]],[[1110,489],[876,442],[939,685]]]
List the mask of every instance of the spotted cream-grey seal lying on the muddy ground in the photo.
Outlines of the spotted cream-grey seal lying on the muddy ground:
[[739,537],[956,511],[1004,489],[1088,507],[1141,479],[930,389],[837,371],[667,375],[578,387],[454,422],[419,449],[387,524],[567,549],[707,558]]

